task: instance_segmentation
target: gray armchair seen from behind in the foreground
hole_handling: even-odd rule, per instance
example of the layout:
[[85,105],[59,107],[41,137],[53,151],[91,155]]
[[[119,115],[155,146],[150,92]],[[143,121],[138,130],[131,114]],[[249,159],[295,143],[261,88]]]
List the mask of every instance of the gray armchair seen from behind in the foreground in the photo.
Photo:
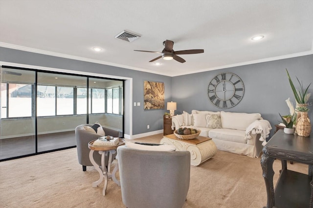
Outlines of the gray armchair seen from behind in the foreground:
[[117,148],[122,200],[127,208],[182,208],[190,181],[189,151]]

